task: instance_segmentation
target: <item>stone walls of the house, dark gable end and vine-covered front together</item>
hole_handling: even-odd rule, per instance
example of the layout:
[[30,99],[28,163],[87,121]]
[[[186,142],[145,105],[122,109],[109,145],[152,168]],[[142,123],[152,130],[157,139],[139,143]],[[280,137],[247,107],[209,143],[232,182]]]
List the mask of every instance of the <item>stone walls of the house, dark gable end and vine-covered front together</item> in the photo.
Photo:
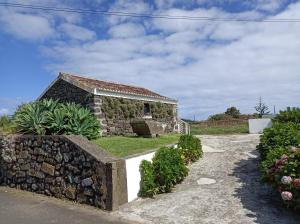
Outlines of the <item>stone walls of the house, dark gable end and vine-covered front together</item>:
[[177,124],[177,105],[94,95],[64,80],[52,85],[41,99],[45,98],[90,109],[100,122],[103,136],[133,135],[130,122],[144,116],[144,103],[150,105],[152,119],[166,125],[166,133],[174,132]]

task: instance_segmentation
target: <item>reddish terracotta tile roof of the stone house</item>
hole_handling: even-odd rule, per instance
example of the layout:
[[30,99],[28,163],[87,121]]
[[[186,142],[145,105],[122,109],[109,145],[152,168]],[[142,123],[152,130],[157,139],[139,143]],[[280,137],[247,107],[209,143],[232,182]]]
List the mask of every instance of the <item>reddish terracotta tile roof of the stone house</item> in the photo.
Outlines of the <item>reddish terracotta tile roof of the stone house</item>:
[[136,87],[131,85],[124,85],[119,84],[115,82],[107,82],[92,78],[86,78],[74,74],[69,73],[60,73],[62,76],[65,76],[73,81],[77,81],[82,85],[85,85],[89,88],[97,88],[101,90],[107,90],[107,91],[113,91],[113,92],[120,92],[120,93],[127,93],[127,94],[133,94],[133,95],[140,95],[140,96],[149,96],[154,98],[161,98],[161,99],[169,99],[168,97],[162,96],[158,93],[155,93],[149,89],[143,88],[143,87]]

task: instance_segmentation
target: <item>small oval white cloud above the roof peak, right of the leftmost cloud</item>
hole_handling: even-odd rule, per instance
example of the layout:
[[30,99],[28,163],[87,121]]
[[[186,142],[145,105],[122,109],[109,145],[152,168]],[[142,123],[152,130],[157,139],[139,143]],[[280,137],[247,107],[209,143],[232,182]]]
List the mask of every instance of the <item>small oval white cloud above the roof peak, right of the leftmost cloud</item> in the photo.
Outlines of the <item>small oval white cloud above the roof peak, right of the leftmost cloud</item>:
[[96,33],[81,26],[70,23],[63,23],[58,28],[64,35],[74,40],[92,40],[96,38]]

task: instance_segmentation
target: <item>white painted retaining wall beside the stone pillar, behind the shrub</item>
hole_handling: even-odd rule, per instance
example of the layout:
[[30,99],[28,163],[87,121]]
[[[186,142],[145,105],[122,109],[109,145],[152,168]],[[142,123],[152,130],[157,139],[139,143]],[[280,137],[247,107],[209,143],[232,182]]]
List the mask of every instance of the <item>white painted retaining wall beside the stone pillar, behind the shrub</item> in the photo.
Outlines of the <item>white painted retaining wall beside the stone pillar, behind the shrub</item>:
[[127,172],[127,191],[128,191],[128,202],[133,201],[138,197],[140,190],[141,174],[139,171],[142,160],[151,161],[155,152],[144,154],[141,156],[128,158],[126,162]]

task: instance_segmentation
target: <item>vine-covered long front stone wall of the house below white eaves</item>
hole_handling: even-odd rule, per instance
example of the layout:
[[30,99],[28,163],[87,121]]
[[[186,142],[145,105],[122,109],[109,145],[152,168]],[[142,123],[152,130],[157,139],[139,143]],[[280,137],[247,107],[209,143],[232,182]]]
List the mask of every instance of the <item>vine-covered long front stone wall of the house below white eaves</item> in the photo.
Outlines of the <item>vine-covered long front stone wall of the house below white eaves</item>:
[[151,109],[152,120],[165,124],[165,132],[174,132],[177,124],[177,105],[106,96],[95,96],[96,116],[106,135],[133,135],[130,122],[144,117],[144,103]]

